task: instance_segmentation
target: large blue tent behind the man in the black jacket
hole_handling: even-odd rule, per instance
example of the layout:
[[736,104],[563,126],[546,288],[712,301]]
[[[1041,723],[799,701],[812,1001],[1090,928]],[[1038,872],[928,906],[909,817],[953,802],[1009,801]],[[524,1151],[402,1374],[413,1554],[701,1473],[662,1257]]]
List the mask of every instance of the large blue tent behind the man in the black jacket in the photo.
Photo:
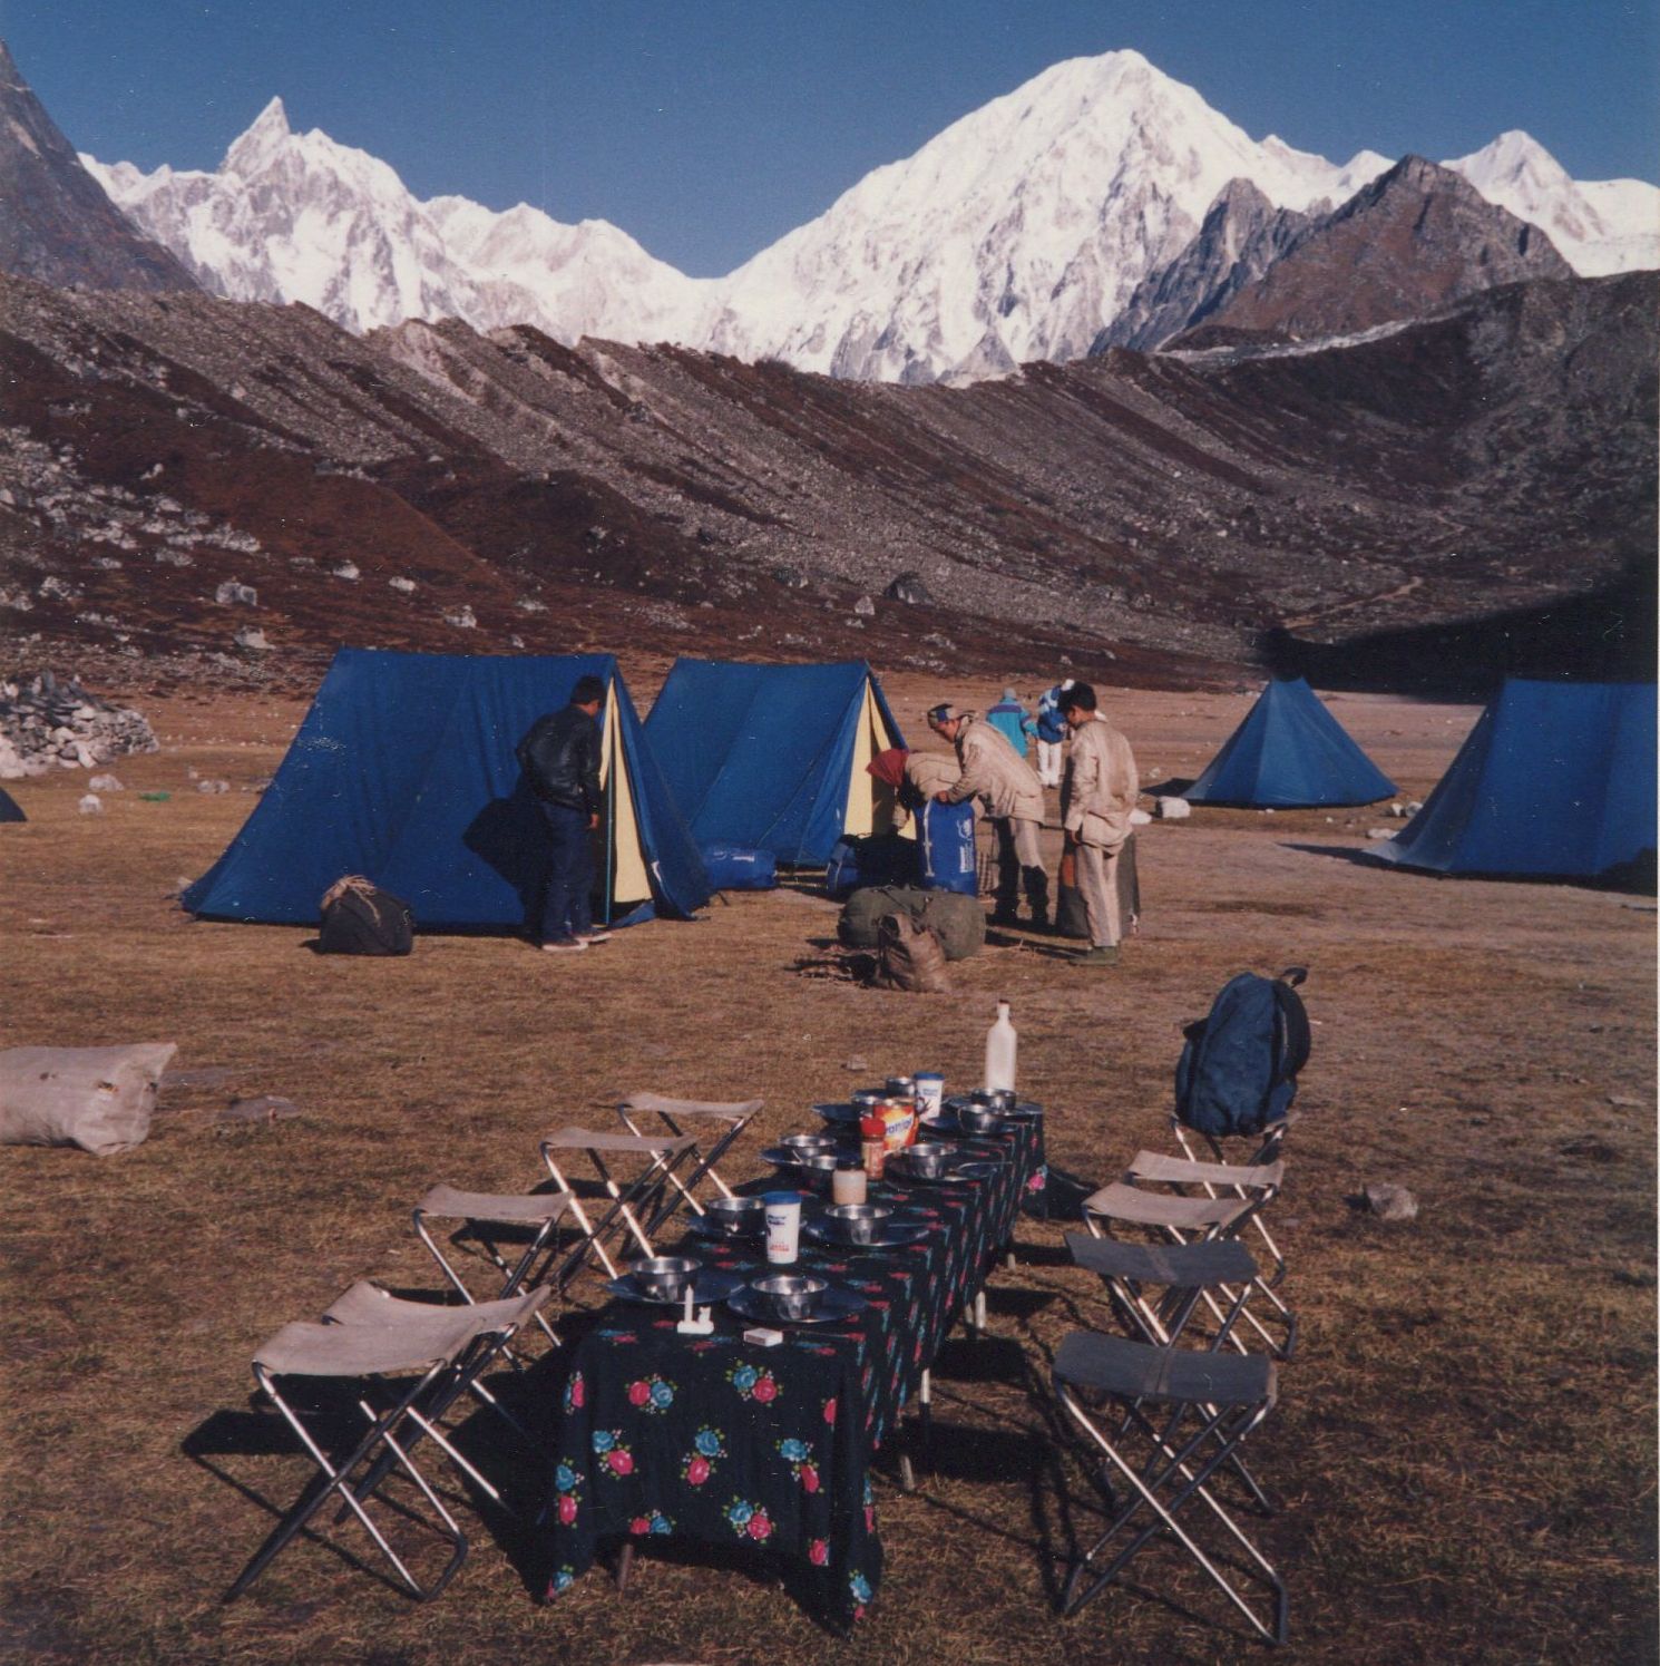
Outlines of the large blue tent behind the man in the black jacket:
[[220,920],[318,918],[361,873],[421,928],[521,926],[546,876],[546,831],[513,748],[578,676],[601,713],[608,811],[603,918],[709,898],[691,833],[609,655],[476,656],[341,648],[258,808],[183,903]]

